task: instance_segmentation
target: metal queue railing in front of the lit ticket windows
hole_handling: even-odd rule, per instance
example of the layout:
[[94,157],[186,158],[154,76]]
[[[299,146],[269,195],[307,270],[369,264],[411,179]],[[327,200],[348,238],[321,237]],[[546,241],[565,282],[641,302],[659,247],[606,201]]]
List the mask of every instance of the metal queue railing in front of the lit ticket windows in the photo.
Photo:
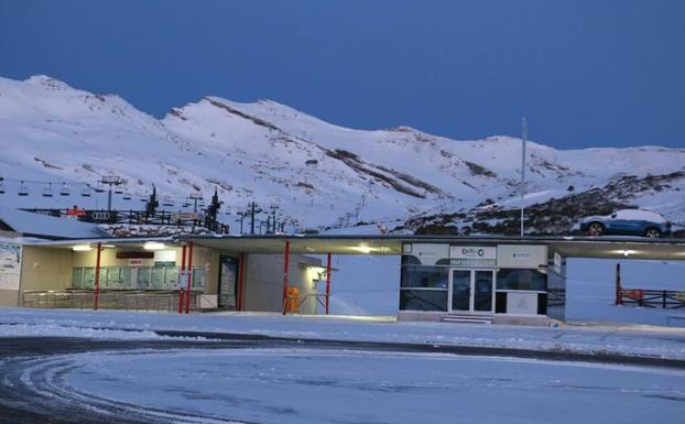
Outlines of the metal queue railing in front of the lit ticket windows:
[[[191,292],[191,309],[199,309],[202,292]],[[25,307],[91,309],[93,290],[24,291],[21,303]],[[177,290],[100,290],[98,308],[122,311],[177,312]]]

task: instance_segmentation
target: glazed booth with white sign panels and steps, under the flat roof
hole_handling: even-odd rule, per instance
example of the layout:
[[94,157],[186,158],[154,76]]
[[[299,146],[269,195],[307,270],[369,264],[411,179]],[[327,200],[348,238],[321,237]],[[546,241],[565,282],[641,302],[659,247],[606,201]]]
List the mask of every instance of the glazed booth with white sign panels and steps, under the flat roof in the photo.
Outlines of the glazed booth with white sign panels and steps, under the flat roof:
[[403,243],[400,319],[564,319],[566,263],[547,244]]

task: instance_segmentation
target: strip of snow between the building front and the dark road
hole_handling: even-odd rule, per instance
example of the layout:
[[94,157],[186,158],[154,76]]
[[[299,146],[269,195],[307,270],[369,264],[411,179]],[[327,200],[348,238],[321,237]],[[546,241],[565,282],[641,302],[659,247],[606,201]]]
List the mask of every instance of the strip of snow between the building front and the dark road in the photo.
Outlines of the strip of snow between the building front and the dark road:
[[[0,309],[0,337],[14,324],[74,329],[167,329],[268,335],[329,340],[362,340],[507,347],[574,352],[613,352],[685,359],[685,329],[648,326],[524,327],[394,322],[391,318],[305,317],[280,314],[206,313],[176,315],[116,311]],[[135,333],[131,333],[135,335]],[[31,335],[30,333],[28,335]],[[46,335],[46,334],[43,334]],[[122,334],[121,337],[126,337]]]

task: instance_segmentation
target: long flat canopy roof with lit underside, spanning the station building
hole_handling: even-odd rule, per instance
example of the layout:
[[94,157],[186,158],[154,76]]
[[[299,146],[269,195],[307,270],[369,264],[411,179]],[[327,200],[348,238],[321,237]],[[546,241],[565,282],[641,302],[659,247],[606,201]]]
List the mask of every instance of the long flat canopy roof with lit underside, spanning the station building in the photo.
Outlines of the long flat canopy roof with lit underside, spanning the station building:
[[193,241],[196,246],[230,253],[282,254],[285,241],[291,253],[301,254],[401,254],[402,244],[547,244],[566,258],[685,260],[685,239],[648,239],[642,237],[498,237],[498,236],[402,236],[402,235],[241,235],[182,236],[151,238],[102,238],[41,241],[28,246],[72,247],[97,243],[142,247],[146,241],[178,243]]

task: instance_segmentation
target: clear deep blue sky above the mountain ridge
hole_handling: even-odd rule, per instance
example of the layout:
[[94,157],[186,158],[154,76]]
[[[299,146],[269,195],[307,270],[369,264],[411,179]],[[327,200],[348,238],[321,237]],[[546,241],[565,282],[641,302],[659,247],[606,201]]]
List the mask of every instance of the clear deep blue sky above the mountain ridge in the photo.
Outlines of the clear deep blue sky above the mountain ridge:
[[0,76],[163,116],[271,98],[355,128],[685,148],[685,1],[0,0]]

